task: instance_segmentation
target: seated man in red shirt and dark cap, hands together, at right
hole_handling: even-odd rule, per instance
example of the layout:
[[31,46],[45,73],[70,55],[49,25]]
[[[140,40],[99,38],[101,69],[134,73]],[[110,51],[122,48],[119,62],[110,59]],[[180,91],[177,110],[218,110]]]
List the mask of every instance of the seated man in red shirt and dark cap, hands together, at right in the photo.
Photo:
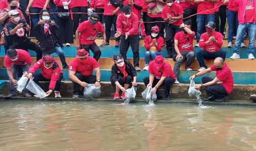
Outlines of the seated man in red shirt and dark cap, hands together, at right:
[[226,51],[221,50],[222,47],[222,34],[215,31],[216,24],[213,21],[208,22],[205,26],[206,32],[201,34],[199,47],[203,48],[203,51],[197,53],[197,60],[200,65],[198,71],[203,71],[207,68],[204,59],[215,59],[216,57],[222,57],[226,59]]

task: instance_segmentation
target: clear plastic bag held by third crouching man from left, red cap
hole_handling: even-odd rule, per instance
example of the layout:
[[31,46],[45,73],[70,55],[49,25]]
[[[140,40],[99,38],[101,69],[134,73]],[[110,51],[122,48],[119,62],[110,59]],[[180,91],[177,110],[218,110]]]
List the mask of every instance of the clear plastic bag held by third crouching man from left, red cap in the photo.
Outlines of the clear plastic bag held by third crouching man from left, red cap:
[[94,84],[88,84],[84,88],[84,100],[88,101],[91,98],[96,98],[100,96],[100,87],[96,88]]

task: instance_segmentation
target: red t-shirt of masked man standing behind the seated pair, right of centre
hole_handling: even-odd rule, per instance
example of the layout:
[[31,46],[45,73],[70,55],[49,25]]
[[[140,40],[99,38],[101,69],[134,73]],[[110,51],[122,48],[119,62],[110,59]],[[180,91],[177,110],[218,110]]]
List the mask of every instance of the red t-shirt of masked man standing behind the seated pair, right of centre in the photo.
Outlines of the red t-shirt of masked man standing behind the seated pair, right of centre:
[[[177,17],[183,15],[183,9],[181,5],[177,3],[173,3],[171,7],[165,5],[165,7],[162,9],[162,19],[166,19],[168,14],[170,14],[172,17]],[[180,26],[183,23],[183,20],[170,20],[168,23],[175,26]]]

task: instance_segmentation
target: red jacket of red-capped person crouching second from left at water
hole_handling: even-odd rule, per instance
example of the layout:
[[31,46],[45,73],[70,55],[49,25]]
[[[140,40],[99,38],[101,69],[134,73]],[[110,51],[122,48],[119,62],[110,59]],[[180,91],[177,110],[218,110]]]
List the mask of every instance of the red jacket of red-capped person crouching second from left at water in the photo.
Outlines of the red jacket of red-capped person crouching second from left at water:
[[49,84],[49,90],[54,90],[57,80],[59,79],[59,75],[63,74],[61,71],[61,68],[59,68],[58,63],[55,61],[50,69],[45,68],[43,65],[42,59],[37,61],[34,66],[32,66],[28,73],[34,74],[37,69],[41,68],[41,73],[44,78],[51,79],[51,82]]

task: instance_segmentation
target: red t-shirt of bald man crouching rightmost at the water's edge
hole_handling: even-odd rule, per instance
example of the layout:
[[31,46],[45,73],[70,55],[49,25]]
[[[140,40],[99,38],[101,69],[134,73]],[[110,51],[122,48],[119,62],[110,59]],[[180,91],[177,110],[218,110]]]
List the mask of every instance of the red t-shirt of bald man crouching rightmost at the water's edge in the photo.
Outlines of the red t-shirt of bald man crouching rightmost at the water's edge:
[[[216,71],[215,66],[211,66],[210,68],[212,71]],[[232,71],[225,63],[221,70],[216,71],[216,78],[220,80],[220,82],[217,84],[223,85],[227,91],[227,94],[230,94],[233,90],[234,79]]]

